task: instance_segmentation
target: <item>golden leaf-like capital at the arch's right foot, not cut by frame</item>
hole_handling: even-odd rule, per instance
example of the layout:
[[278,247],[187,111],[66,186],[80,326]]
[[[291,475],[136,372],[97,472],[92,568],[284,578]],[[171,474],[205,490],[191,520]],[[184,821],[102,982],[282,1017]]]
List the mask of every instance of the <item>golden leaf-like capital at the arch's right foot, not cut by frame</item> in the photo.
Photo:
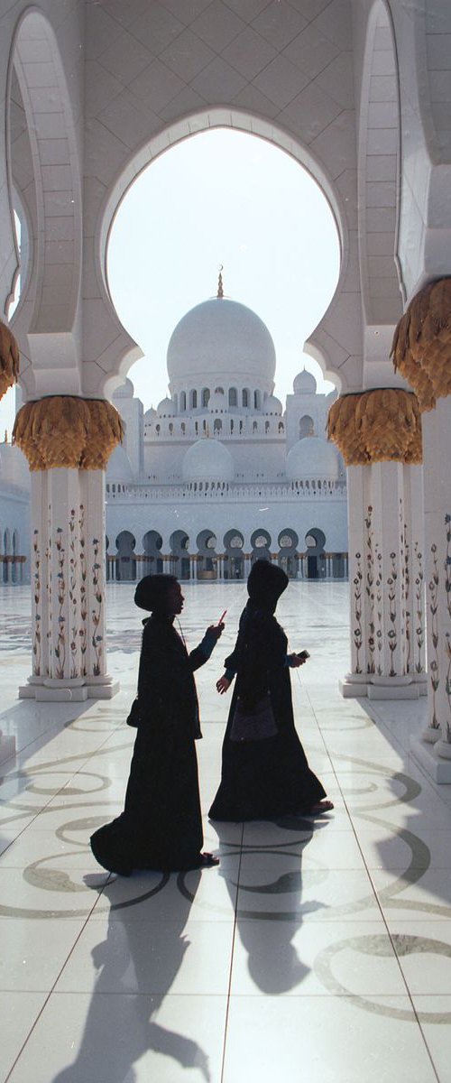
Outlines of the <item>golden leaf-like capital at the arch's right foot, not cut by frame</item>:
[[420,464],[422,429],[416,397],[400,388],[341,395],[329,410],[328,438],[348,467]]

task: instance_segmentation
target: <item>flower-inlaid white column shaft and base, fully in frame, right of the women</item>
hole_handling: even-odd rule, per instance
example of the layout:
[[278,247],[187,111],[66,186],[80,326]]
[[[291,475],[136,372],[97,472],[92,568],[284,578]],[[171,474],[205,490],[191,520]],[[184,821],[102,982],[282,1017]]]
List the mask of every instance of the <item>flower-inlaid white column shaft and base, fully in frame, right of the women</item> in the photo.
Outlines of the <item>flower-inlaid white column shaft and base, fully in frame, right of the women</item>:
[[424,691],[421,467],[348,468],[351,668],[343,695]]

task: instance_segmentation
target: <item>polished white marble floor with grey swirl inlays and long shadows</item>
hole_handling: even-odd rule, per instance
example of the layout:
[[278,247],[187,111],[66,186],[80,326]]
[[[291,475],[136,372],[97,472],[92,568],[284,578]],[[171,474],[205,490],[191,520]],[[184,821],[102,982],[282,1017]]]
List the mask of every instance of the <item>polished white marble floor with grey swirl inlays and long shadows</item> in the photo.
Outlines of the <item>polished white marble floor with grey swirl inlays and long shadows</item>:
[[[188,585],[188,645],[228,609],[198,674],[202,807],[215,792],[226,697],[214,691],[242,585]],[[218,869],[109,876],[92,831],[122,807],[140,614],[108,589],[110,702],[17,702],[29,671],[26,588],[2,592],[0,1081],[450,1083],[451,787],[409,756],[425,701],[342,700],[346,584],[293,583],[279,604],[300,735],[335,804],[209,823]],[[371,715],[370,713],[371,712]]]

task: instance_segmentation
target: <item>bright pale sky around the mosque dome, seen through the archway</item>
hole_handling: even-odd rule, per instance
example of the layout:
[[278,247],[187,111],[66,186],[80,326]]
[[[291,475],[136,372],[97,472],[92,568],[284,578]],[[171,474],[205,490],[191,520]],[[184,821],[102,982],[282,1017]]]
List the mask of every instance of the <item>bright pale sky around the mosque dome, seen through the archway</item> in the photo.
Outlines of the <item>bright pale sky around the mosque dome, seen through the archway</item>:
[[[144,357],[130,369],[145,408],[168,388],[171,334],[195,304],[216,295],[253,309],[270,331],[276,394],[304,367],[303,343],[335,289],[340,247],[332,211],[299,162],[271,143],[229,129],[184,140],[148,166],[125,194],[108,246],[109,288]],[[12,428],[13,395],[0,404]]]

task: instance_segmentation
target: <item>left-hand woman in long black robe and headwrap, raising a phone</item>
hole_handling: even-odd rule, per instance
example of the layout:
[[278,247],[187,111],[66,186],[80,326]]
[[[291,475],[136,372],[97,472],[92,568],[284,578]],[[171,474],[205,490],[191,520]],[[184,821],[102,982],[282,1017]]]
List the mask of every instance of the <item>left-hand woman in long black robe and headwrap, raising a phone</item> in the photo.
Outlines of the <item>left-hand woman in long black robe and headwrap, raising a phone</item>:
[[173,575],[146,575],[135,602],[144,623],[137,686],[138,726],[120,817],[91,837],[104,869],[178,871],[217,864],[202,853],[195,739],[201,736],[194,671],[210,657],[224,625],[210,626],[188,654],[173,627],[184,598]]

